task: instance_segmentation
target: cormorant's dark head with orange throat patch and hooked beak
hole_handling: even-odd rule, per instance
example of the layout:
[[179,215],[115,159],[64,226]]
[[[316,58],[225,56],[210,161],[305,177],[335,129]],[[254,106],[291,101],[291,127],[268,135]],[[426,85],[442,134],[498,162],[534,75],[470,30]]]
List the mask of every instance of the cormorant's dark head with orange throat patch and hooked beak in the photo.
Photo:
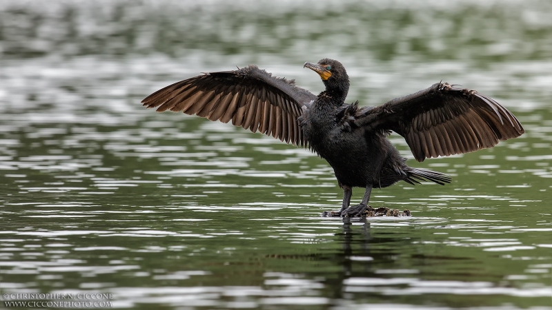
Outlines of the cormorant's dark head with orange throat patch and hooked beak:
[[347,96],[349,90],[349,76],[343,65],[336,60],[324,58],[318,63],[306,62],[303,68],[309,68],[316,72],[326,85],[326,91],[337,92]]

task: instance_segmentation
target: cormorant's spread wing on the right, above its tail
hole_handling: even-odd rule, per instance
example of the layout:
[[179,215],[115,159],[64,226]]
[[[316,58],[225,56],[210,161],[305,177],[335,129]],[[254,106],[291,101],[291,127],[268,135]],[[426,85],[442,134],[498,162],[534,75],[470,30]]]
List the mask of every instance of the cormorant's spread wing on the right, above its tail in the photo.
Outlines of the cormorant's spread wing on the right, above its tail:
[[354,124],[397,132],[417,161],[493,147],[524,133],[517,118],[493,99],[448,83],[366,110]]

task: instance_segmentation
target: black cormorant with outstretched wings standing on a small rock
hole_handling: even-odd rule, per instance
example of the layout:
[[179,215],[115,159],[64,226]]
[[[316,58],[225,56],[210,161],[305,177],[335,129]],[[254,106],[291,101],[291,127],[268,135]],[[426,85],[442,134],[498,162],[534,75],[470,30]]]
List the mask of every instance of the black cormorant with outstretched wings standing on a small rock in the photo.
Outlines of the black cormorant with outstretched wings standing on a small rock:
[[[393,99],[377,107],[344,103],[349,78],[339,61],[305,63],[319,74],[326,90],[315,96],[249,65],[211,72],[169,85],[142,101],[157,107],[196,114],[210,121],[262,132],[286,143],[310,147],[333,167],[344,190],[340,211],[324,215],[362,214],[373,187],[404,180],[428,180],[440,185],[451,178],[440,172],[411,168],[386,138],[391,131],[406,139],[417,161],[493,147],[524,133],[517,118],[493,99],[436,83],[426,90]],[[349,206],[353,187],[364,187],[362,203]]]

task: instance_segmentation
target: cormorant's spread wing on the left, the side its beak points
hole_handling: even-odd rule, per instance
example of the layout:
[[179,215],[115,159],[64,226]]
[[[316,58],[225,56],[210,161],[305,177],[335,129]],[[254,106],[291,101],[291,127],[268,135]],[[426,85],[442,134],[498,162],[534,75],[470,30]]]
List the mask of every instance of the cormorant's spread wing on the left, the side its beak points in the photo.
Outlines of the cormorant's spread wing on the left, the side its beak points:
[[210,121],[221,121],[262,132],[286,143],[306,145],[297,124],[303,107],[316,96],[297,87],[294,80],[273,77],[255,65],[224,72],[210,72],[169,85],[142,101],[157,107],[196,114]]

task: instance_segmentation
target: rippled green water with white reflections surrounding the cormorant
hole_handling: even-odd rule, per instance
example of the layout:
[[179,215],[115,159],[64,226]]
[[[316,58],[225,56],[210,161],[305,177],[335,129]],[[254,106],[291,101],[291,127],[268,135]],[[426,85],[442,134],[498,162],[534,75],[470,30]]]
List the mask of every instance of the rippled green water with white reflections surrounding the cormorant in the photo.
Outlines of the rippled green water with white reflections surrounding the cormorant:
[[[552,309],[551,21],[548,1],[0,2],[2,306]],[[302,65],[324,57],[348,101],[459,83],[526,134],[424,163],[393,134],[453,183],[373,191],[410,218],[321,218],[342,191],[315,154],[139,103],[250,63],[317,93]]]

